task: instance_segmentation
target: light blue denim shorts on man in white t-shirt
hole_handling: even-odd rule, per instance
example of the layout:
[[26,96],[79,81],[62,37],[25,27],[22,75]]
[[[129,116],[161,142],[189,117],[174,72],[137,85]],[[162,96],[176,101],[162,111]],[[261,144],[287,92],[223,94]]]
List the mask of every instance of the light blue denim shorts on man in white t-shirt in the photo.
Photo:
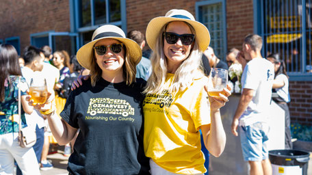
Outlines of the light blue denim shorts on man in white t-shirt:
[[256,122],[249,126],[239,126],[239,134],[245,161],[268,159],[268,133],[270,126],[265,122]]

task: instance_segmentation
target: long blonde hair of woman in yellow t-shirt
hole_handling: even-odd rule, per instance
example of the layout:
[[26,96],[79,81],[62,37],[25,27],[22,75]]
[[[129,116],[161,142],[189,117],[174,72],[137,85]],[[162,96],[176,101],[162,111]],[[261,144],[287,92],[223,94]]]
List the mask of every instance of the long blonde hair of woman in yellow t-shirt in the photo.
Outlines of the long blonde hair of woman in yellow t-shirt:
[[[164,25],[164,27],[161,29],[161,33],[159,33],[157,37],[155,50],[151,56],[153,71],[144,90],[144,93],[146,94],[157,94],[164,90],[164,83],[167,76],[167,60],[166,56],[164,55],[164,37],[162,33],[166,31],[166,27],[169,23]],[[196,33],[192,25],[188,23],[186,24],[190,27],[192,33]],[[203,75],[203,67],[201,66],[202,55],[203,52],[199,50],[198,42],[195,37],[194,45],[192,46],[190,55],[181,63],[179,68],[174,73],[174,81],[168,89],[170,93],[177,92],[178,90],[185,90],[194,81],[194,78],[196,75],[198,75],[198,72]]]

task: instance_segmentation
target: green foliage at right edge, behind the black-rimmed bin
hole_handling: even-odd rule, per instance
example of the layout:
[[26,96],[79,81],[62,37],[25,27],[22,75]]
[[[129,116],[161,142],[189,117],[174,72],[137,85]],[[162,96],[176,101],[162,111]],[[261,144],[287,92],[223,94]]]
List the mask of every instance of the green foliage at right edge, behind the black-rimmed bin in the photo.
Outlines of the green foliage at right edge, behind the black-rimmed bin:
[[312,126],[294,123],[290,125],[291,137],[312,142]]

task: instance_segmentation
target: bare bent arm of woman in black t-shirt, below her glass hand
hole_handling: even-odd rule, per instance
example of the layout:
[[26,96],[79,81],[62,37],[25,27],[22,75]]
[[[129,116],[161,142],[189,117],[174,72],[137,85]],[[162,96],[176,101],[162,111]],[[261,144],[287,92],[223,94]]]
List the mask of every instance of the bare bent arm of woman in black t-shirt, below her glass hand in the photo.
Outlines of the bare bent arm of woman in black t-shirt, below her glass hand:
[[75,129],[73,126],[70,126],[64,120],[61,120],[55,111],[46,116],[48,118],[51,132],[57,140],[58,144],[61,146],[66,145],[75,137],[77,129]]

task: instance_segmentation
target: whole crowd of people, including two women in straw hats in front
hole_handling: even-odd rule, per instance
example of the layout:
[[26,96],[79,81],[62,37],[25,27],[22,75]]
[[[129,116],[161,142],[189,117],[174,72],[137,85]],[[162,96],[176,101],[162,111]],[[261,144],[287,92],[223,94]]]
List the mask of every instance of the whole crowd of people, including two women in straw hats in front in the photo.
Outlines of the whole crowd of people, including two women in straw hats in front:
[[[152,53],[144,57],[146,42]],[[226,62],[209,42],[205,25],[174,9],[148,23],[146,40],[138,30],[126,37],[116,25],[103,25],[71,57],[49,46],[27,46],[18,57],[13,46],[1,44],[0,174],[13,174],[14,160],[16,174],[53,168],[51,140],[65,146],[69,174],[205,174],[205,149],[215,157],[224,150],[220,108],[233,92],[227,85],[209,96],[207,77],[212,68],[233,64],[244,71],[233,81],[242,84],[242,94],[232,133],[239,131],[250,174],[272,174],[265,113],[271,99],[285,110],[285,148],[292,148],[283,59],[277,53],[263,58],[255,34],[244,38],[242,51],[230,49]],[[38,74],[47,81],[44,104],[27,94]],[[18,120],[36,130],[33,147],[18,146]]]

